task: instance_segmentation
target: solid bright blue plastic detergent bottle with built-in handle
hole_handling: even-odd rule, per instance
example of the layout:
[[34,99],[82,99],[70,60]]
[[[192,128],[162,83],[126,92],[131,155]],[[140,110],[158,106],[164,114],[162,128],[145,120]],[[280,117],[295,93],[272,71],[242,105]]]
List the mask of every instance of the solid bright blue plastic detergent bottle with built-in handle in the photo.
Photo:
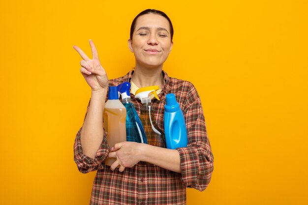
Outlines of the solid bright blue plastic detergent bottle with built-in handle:
[[164,129],[167,148],[175,149],[187,146],[185,118],[173,93],[166,95]]

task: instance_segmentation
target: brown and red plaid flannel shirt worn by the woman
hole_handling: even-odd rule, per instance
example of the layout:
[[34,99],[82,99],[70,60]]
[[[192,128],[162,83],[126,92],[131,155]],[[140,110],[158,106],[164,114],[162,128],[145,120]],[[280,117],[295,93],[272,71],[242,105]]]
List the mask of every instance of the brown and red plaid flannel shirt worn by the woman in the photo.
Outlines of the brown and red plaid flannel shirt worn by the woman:
[[[74,143],[74,160],[80,172],[96,171],[92,187],[91,205],[185,205],[186,187],[203,191],[213,172],[213,154],[208,139],[200,97],[195,87],[183,80],[169,77],[163,72],[160,101],[152,100],[152,109],[158,127],[164,131],[165,95],[174,93],[185,116],[187,147],[177,148],[180,153],[182,173],[175,173],[156,165],[139,162],[124,172],[111,171],[104,164],[109,147],[104,134],[103,141],[92,159],[83,154],[78,131]],[[133,71],[109,81],[109,86],[130,82]],[[131,94],[132,103],[140,115],[142,106]],[[166,156],[168,157],[168,156]]]

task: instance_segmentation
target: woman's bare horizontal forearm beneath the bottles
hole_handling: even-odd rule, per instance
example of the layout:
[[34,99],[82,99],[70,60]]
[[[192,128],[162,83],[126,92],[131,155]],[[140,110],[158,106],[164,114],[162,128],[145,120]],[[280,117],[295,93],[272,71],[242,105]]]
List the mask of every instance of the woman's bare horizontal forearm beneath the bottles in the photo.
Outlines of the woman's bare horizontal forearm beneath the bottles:
[[178,150],[146,144],[143,145],[141,161],[149,162],[161,168],[181,173],[181,161]]

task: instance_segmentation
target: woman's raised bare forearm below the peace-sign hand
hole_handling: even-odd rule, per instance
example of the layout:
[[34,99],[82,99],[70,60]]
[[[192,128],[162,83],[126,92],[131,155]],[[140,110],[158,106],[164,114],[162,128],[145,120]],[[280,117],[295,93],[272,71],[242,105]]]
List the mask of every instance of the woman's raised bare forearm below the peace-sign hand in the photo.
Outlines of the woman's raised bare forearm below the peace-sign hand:
[[83,153],[91,158],[95,157],[103,140],[103,112],[106,94],[107,89],[92,91],[90,106],[80,134]]

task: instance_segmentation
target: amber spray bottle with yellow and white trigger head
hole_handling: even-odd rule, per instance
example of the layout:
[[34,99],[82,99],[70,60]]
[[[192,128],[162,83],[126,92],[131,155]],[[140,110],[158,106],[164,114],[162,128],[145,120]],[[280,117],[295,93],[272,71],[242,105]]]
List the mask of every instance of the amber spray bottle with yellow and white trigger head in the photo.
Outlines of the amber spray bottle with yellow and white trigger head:
[[142,107],[140,119],[143,124],[148,144],[153,146],[166,147],[165,135],[156,124],[154,114],[151,108],[151,95],[154,94],[157,100],[160,100],[156,94],[158,86],[139,88],[136,91],[135,98],[141,100]]

